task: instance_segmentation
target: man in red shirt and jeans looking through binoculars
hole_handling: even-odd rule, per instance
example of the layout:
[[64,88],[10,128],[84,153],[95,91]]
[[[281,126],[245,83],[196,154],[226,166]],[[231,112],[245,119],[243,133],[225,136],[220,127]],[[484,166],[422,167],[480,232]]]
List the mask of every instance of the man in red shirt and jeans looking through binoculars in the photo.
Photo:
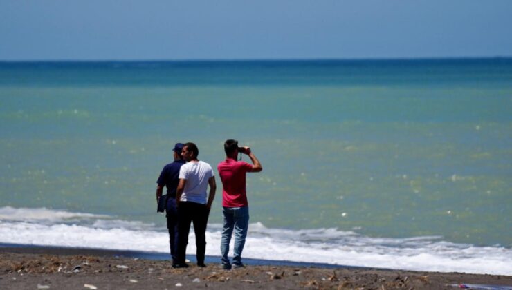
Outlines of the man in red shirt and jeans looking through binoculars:
[[[253,152],[250,151],[250,148],[248,146],[239,147],[237,140],[226,140],[224,151],[226,152],[226,160],[220,162],[217,166],[223,187],[222,213],[224,222],[221,240],[221,262],[223,269],[231,269],[228,252],[233,229],[235,229],[235,247],[232,264],[233,267],[244,267],[241,262],[241,252],[244,250],[249,226],[246,173],[259,172],[263,168]],[[253,164],[237,161],[239,152],[248,155]]]

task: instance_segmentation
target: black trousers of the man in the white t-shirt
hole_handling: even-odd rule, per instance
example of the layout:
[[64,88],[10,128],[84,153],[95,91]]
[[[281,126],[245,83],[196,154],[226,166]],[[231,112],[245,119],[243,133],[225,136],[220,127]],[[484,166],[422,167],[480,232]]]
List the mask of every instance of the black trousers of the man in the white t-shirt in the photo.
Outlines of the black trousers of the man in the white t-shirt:
[[206,251],[205,233],[208,215],[210,215],[210,211],[206,207],[206,204],[180,202],[178,206],[178,264],[185,264],[185,252],[187,251],[190,222],[194,223],[197,264],[204,264]]

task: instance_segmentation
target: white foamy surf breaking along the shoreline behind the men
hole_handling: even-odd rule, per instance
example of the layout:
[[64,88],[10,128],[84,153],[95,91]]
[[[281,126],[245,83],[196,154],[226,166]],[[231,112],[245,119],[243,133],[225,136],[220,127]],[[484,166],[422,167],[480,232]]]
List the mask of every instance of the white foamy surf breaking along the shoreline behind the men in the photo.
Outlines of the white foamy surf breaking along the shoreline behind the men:
[[[161,253],[167,253],[169,249],[166,229],[157,229],[153,224],[111,217],[104,219],[102,215],[86,213],[39,210],[46,218],[36,215],[27,222],[19,218],[4,218],[6,211],[12,209],[1,208],[0,242]],[[60,216],[64,218],[57,218]],[[93,222],[62,222],[69,217],[93,219]],[[39,220],[55,222],[48,224]],[[192,232],[188,254],[195,253]],[[206,254],[220,255],[221,225],[209,224],[206,239]],[[244,257],[417,271],[512,275],[512,250],[504,247],[455,244],[436,236],[369,238],[337,229],[270,229],[259,222],[249,226]]]

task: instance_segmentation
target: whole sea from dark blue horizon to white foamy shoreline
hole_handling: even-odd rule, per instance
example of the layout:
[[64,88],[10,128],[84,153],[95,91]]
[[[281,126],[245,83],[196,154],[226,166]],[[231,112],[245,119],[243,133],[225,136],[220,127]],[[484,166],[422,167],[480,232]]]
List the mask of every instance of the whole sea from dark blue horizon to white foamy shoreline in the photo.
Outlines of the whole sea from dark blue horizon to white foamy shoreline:
[[174,143],[226,139],[246,258],[512,275],[511,58],[0,61],[0,244],[168,253]]

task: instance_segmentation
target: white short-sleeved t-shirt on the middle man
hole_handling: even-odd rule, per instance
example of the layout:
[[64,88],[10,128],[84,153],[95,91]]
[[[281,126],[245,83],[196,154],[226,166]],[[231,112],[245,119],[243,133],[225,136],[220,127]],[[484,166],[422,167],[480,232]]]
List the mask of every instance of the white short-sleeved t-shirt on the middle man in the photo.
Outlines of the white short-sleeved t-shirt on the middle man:
[[179,178],[187,180],[181,202],[196,202],[198,204],[206,204],[206,189],[208,188],[208,180],[213,175],[212,166],[206,162],[187,162],[180,168]]

